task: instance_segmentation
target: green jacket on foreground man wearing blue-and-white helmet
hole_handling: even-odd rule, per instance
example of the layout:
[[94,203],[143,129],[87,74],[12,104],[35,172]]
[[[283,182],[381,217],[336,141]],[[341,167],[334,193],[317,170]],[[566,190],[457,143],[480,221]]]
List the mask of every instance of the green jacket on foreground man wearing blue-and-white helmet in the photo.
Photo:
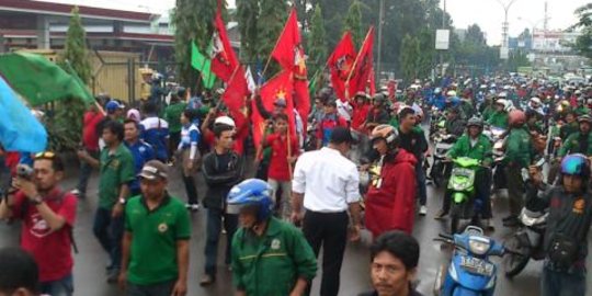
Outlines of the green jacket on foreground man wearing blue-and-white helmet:
[[299,277],[316,273],[312,249],[291,224],[272,217],[263,236],[241,228],[232,238],[232,283],[249,296],[289,295]]

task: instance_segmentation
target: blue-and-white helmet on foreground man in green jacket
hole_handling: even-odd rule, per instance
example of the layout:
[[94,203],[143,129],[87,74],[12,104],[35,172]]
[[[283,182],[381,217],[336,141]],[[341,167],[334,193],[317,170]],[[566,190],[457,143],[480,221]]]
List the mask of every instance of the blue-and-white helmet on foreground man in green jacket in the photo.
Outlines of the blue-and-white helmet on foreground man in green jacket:
[[273,209],[272,187],[259,179],[247,179],[235,185],[227,197],[227,212],[239,214],[243,208],[253,208],[258,221],[266,220]]

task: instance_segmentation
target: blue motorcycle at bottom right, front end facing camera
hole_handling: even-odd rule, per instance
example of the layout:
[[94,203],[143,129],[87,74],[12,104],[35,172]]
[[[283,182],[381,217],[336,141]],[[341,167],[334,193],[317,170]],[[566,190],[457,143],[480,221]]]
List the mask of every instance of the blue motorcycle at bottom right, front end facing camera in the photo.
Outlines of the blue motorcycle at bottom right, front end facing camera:
[[436,273],[434,295],[493,295],[497,266],[489,257],[502,257],[509,252],[501,243],[486,237],[483,230],[475,226],[467,227],[459,235],[440,235],[434,240],[454,246],[447,272],[446,266],[442,266]]

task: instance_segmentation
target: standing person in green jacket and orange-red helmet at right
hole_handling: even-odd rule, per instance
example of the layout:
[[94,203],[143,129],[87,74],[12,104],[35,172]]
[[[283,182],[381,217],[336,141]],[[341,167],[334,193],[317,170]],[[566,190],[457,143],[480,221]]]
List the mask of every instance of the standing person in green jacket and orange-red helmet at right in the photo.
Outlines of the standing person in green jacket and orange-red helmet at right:
[[506,227],[514,227],[519,224],[517,215],[522,210],[524,180],[522,169],[531,164],[533,143],[531,135],[524,128],[526,115],[520,110],[513,110],[509,115],[510,130],[505,143],[505,177],[508,180],[508,195],[510,204],[510,216],[502,219]]

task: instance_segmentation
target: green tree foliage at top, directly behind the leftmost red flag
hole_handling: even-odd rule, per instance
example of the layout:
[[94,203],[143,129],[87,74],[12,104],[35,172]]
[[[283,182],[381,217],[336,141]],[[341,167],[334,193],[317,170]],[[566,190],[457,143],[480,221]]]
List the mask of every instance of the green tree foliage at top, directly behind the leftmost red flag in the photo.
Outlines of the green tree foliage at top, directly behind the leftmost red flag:
[[[201,83],[198,72],[191,67],[191,41],[204,49],[208,46],[214,31],[217,0],[177,0],[172,13],[174,30],[174,56],[179,64],[178,75],[181,84],[197,89]],[[226,7],[223,5],[223,15]]]

